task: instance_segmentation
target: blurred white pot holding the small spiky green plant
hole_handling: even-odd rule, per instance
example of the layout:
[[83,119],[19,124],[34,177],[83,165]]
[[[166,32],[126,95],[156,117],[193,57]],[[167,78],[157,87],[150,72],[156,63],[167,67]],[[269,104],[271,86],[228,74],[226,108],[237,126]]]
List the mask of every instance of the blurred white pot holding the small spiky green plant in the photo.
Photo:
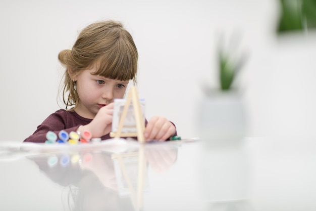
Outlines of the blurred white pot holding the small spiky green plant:
[[198,102],[197,131],[203,142],[234,144],[246,130],[244,103],[237,91],[212,92]]

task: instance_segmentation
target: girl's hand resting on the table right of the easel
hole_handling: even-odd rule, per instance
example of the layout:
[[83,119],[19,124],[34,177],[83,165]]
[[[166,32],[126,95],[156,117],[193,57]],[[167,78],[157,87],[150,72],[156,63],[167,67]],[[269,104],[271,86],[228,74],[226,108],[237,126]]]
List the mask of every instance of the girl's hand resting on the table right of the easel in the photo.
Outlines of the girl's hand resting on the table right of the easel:
[[176,128],[168,119],[162,116],[153,116],[147,123],[144,136],[146,140],[166,141],[175,133]]

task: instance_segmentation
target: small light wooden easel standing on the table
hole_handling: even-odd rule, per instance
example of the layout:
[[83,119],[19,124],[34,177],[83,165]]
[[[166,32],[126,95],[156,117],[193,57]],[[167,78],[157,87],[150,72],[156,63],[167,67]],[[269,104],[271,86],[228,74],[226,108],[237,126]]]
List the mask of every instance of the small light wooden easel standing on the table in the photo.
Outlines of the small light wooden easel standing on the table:
[[[125,122],[126,115],[127,115],[128,108],[130,106],[131,101],[132,101],[132,106],[133,106],[134,115],[135,115],[137,133],[122,133],[122,129],[124,126],[124,122]],[[139,98],[138,98],[138,91],[136,87],[132,87],[126,99],[123,113],[119,121],[118,130],[116,132],[111,132],[110,137],[120,138],[120,137],[137,136],[138,142],[144,143],[145,142],[144,130],[145,130],[145,122],[143,121],[143,118],[142,118],[142,112],[141,112],[141,107],[140,107]]]

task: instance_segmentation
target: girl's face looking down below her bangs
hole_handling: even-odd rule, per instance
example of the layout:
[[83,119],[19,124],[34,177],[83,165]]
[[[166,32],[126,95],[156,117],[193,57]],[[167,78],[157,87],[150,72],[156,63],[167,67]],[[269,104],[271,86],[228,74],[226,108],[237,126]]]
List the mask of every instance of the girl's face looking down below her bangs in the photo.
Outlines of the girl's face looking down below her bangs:
[[115,98],[123,98],[129,82],[93,75],[95,71],[95,68],[87,69],[72,78],[77,81],[79,96],[75,111],[89,119],[93,119],[101,107],[112,103]]

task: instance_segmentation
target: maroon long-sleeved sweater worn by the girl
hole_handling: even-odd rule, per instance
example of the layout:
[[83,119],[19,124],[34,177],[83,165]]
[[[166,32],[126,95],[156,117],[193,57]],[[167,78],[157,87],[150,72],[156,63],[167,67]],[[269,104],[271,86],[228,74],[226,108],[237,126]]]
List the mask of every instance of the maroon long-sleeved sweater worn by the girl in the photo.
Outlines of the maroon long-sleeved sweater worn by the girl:
[[[50,114],[38,127],[33,135],[29,136],[24,142],[45,142],[48,131],[58,134],[61,130],[67,133],[77,131],[80,125],[88,124],[92,119],[79,116],[75,111],[60,109]],[[147,124],[147,121],[145,122]],[[177,133],[176,133],[177,135]],[[101,140],[110,139],[110,134],[101,137]]]

